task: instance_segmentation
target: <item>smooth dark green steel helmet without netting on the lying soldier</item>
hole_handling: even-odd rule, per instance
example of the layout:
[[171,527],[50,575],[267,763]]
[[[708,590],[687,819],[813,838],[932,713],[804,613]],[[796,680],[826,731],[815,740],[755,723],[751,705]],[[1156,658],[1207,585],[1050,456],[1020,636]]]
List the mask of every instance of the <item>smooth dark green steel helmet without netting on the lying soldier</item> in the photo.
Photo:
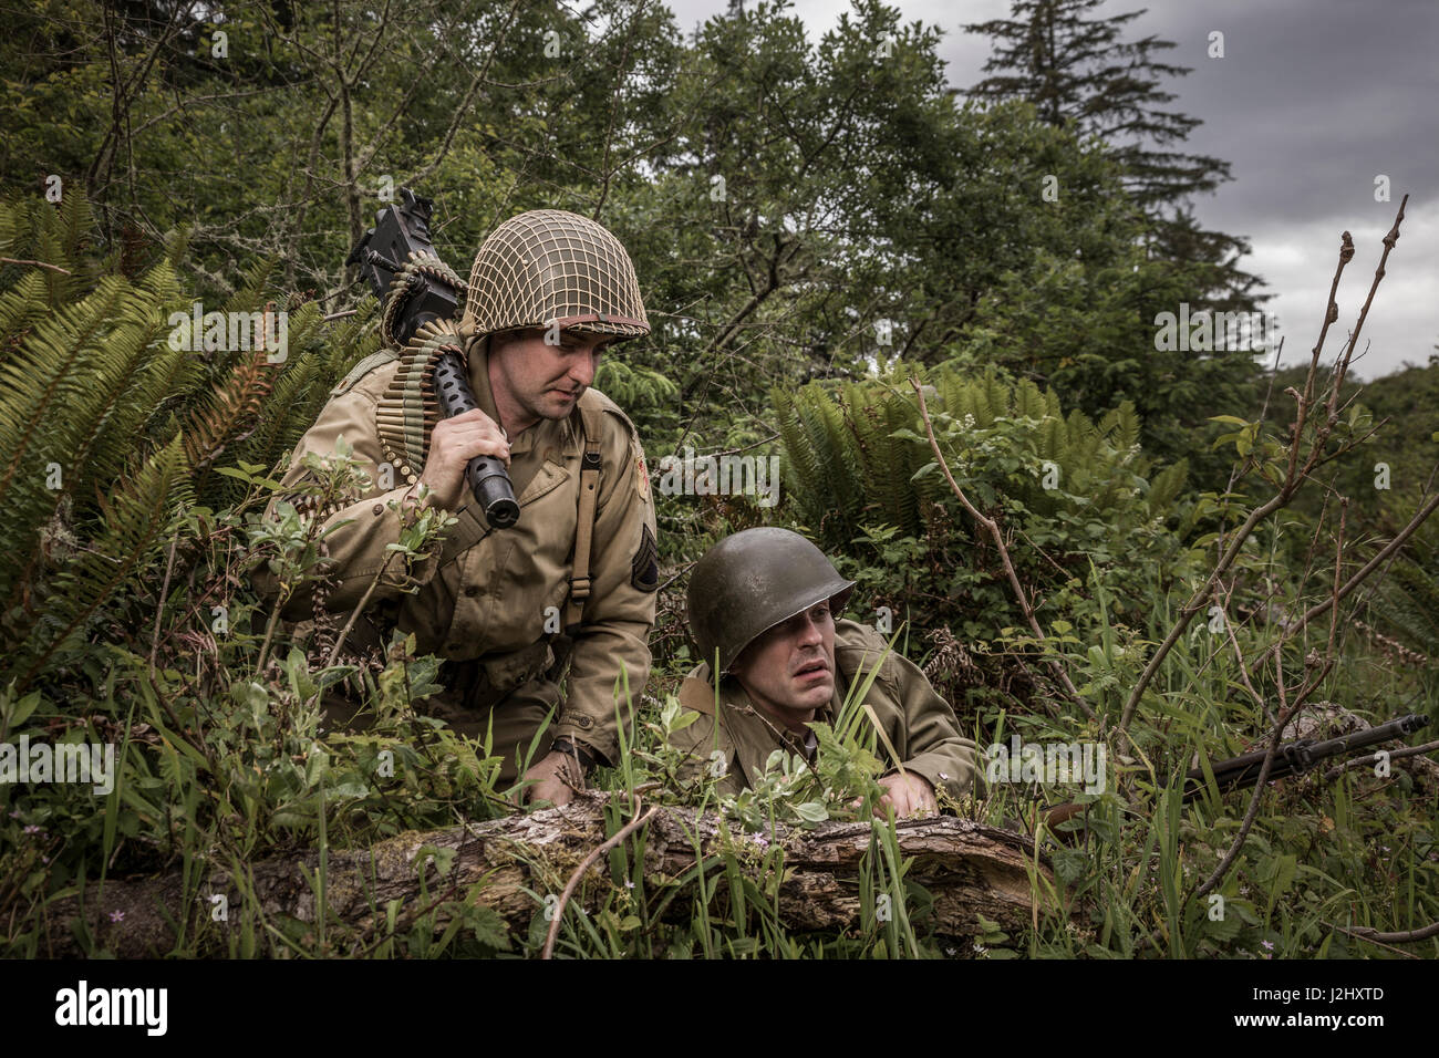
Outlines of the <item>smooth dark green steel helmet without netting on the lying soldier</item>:
[[689,576],[689,630],[701,661],[728,672],[758,636],[810,606],[832,600],[843,607],[855,582],[845,580],[814,544],[799,533],[753,528],[725,537],[705,551]]

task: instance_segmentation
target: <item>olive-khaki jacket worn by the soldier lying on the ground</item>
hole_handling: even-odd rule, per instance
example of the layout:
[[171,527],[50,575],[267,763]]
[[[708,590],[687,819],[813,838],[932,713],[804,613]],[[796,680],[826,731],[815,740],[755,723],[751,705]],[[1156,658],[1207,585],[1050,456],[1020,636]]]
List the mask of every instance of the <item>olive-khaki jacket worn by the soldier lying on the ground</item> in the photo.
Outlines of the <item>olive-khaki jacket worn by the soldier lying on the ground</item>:
[[[835,695],[814,720],[833,723],[852,682],[862,682],[884,655],[879,674],[865,695],[881,727],[899,754],[907,772],[924,776],[935,790],[958,796],[968,789],[979,770],[973,740],[960,734],[960,724],[950,704],[941,698],[924,672],[907,658],[891,651],[878,632],[853,620],[835,623]],[[738,793],[763,774],[764,761],[778,749],[809,756],[803,741],[778,721],[757,710],[734,678],[725,678],[715,694],[709,665],[699,665],[685,678],[679,691],[681,705],[701,714],[699,720],[671,736],[671,746],[688,756],[684,777],[701,769],[714,769],[714,753],[724,754],[720,789]],[[717,714],[718,713],[718,723]],[[884,740],[879,756],[888,757]],[[894,766],[894,760],[888,760]]]

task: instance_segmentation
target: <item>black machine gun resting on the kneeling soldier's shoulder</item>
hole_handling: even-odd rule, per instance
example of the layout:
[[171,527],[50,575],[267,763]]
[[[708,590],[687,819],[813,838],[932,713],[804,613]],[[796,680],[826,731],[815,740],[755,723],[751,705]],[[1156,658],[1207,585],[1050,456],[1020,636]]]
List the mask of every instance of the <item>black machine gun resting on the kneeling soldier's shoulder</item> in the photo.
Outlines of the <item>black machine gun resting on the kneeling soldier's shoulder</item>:
[[[345,258],[380,299],[380,334],[404,348],[425,324],[450,324],[459,308],[460,278],[440,261],[430,239],[433,202],[409,187],[400,189],[401,204],[386,206]],[[479,407],[469,387],[465,364],[452,350],[435,357],[432,389],[440,413],[450,419]],[[505,464],[478,455],[465,468],[471,492],[495,528],[519,521],[519,504]]]

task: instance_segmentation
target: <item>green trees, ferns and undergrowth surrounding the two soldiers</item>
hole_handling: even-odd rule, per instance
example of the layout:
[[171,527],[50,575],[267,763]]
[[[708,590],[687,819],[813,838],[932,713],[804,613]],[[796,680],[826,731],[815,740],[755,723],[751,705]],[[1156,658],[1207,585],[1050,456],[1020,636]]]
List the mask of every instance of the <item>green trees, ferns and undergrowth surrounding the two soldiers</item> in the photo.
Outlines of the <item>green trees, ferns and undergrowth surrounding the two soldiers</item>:
[[[1181,805],[1173,789],[1193,759],[1265,736],[1301,679],[1331,704],[1308,711],[1321,718],[1433,715],[1432,527],[1333,618],[1294,622],[1430,494],[1439,366],[1361,393],[1351,379],[1343,413],[1292,438],[1292,379],[1259,379],[1246,353],[1157,351],[1154,314],[1212,299],[1216,256],[1154,253],[1161,233],[1122,193],[1122,155],[1032,102],[958,105],[937,30],[875,0],[817,48],[783,4],[691,37],[665,9],[619,0],[593,6],[593,24],[479,1],[412,4],[403,23],[350,3],[245,9],[220,26],[181,12],[161,0],[102,20],[62,0],[0,39],[14,118],[0,144],[0,743],[112,743],[121,761],[99,800],[0,783],[6,953],[43,953],[46,910],[88,880],[177,872],[193,895],[266,856],[509,810],[486,747],[423,715],[436,658],[413,641],[338,652],[350,615],[288,628],[249,584],[260,563],[322,579],[315,520],[260,512],[330,387],[377,345],[373,302],[351,297],[341,262],[386,178],[436,197],[462,273],[512,212],[597,216],[630,249],[655,322],[597,386],[639,423],[650,466],[685,446],[743,448],[784,471],[774,510],[658,497],[656,665],[620,766],[597,777],[617,795],[612,831],[630,812],[620,795],[658,783],[648,799],[718,809],[731,841],[676,880],[637,869],[642,835],[622,844],[604,910],[566,918],[563,954],[955,954],[882,823],[853,930],[802,934],[774,911],[784,864],[767,828],[868,818],[879,747],[853,708],[819,733],[813,769],[777,759],[731,799],[676,780],[663,736],[684,723],[685,573],[754,524],[819,541],[859,582],[852,616],[925,665],[980,746],[1017,733],[1108,750],[1107,790],[1081,796],[1088,839],[1046,844],[1063,891],[1036,882],[1045,908],[1020,934],[979,923],[983,954],[1384,957],[1344,930],[1439,918],[1439,783],[1413,761],[1265,789],[1209,894],[1232,908],[1220,918],[1194,894],[1248,795]],[[1046,176],[1058,200],[1042,197]],[[171,314],[196,301],[283,309],[285,357],[176,348]],[[1334,459],[1236,531],[1321,426]],[[344,452],[312,469],[321,505],[354,487]],[[426,515],[400,547],[423,553],[445,528]],[[1145,681],[1230,544],[1226,576]],[[371,730],[321,731],[319,695],[338,681]],[[1003,825],[1072,796],[993,783],[951,808]],[[417,869],[426,855],[443,877],[433,851]],[[563,885],[543,852],[515,855]],[[324,877],[309,881],[322,908]],[[896,915],[873,914],[881,892]],[[522,936],[466,895],[377,908],[363,927],[272,920],[246,898],[233,928],[200,921],[174,951],[538,951],[538,895]],[[114,950],[117,930],[82,947]],[[1409,950],[1435,956],[1439,941]]]

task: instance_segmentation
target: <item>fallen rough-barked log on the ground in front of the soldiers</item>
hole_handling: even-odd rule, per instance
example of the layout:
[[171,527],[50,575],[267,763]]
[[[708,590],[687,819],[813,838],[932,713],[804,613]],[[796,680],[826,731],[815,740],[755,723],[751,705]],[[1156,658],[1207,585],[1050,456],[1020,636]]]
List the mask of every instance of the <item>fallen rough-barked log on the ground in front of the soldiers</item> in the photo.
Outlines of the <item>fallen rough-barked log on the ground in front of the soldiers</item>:
[[[558,894],[584,856],[600,845],[606,831],[606,803],[619,795],[581,793],[570,805],[532,815],[514,815],[484,823],[443,831],[409,832],[389,838],[368,849],[330,849],[327,855],[325,904],[330,923],[373,930],[383,924],[391,900],[400,901],[400,921],[443,900],[465,898],[479,887],[473,900],[491,908],[511,930],[524,933],[541,913],[543,904],[531,894]],[[627,816],[629,818],[629,816]],[[623,822],[623,820],[622,820]],[[661,808],[637,835],[627,839],[633,849],[643,839],[646,888],[653,894],[673,882],[696,864],[696,846],[705,856],[724,849],[753,849],[747,872],[758,878],[757,864],[766,842],[745,835],[735,823],[721,832],[712,813],[692,809]],[[1029,924],[1036,913],[1030,900],[1030,872],[1053,887],[1046,858],[1036,856],[1029,838],[983,826],[953,816],[901,820],[895,825],[898,844],[911,867],[905,878],[918,882],[934,897],[932,927],[954,937],[979,933],[983,915],[1014,931]],[[861,923],[861,859],[871,844],[869,823],[823,823],[814,829],[777,828],[776,841],[784,848],[786,878],[778,890],[778,915],[791,931],[835,931],[856,928]],[[453,862],[443,875],[433,862],[425,869],[422,897],[416,856],[423,846],[452,849]],[[876,855],[882,855],[876,849]],[[750,862],[745,859],[744,862]],[[245,869],[240,882],[220,867],[213,867],[199,884],[184,892],[178,872],[160,878],[108,880],[104,892],[98,882],[86,885],[82,905],[76,897],[55,901],[46,911],[39,953],[42,956],[82,956],[76,933],[88,931],[96,949],[118,957],[163,956],[176,946],[173,923],[186,921],[187,936],[219,926],[233,930],[242,914],[242,888],[252,891],[269,920],[288,917],[315,921],[315,878],[319,854],[315,851],[276,855]],[[692,884],[691,884],[692,888]],[[1040,887],[1042,891],[1046,887]],[[613,890],[609,858],[602,856],[586,874],[570,901],[596,911]],[[720,887],[720,894],[724,885]],[[448,897],[446,897],[448,894]],[[212,921],[224,897],[226,921]],[[187,907],[189,905],[189,907]],[[122,913],[117,917],[114,913]],[[692,900],[679,897],[669,904],[666,918],[688,920]],[[436,915],[436,930],[449,915]],[[403,931],[397,928],[397,933]],[[373,934],[378,936],[378,934]],[[340,951],[344,954],[345,951]]]

